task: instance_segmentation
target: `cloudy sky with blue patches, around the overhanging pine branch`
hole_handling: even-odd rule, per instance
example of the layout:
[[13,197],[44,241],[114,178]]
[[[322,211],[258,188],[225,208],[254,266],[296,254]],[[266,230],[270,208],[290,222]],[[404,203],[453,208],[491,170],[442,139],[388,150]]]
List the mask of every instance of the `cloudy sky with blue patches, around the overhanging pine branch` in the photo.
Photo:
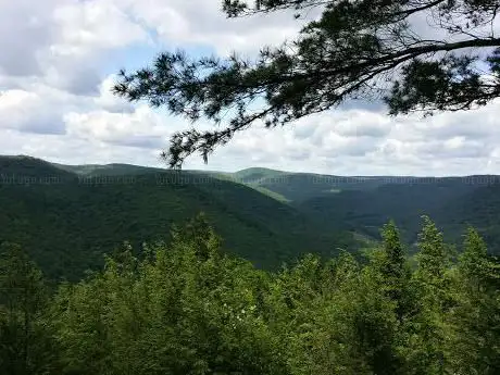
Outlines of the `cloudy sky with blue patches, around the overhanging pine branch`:
[[[220,0],[0,0],[0,154],[166,166],[160,151],[191,124],[113,97],[114,74],[178,48],[193,57],[252,57],[293,38],[304,22],[284,13],[227,20],[220,8]],[[196,154],[184,167],[500,174],[499,114],[500,102],[425,120],[354,103],[283,128],[257,126],[218,148],[208,165]]]

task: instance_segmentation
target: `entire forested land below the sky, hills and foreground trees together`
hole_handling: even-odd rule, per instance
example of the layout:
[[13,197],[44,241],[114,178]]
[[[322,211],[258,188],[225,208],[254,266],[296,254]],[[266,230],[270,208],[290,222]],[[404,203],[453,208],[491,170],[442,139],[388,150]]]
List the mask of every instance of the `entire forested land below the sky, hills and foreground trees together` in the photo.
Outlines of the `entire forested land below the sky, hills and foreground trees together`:
[[2,374],[500,373],[496,176],[0,162]]

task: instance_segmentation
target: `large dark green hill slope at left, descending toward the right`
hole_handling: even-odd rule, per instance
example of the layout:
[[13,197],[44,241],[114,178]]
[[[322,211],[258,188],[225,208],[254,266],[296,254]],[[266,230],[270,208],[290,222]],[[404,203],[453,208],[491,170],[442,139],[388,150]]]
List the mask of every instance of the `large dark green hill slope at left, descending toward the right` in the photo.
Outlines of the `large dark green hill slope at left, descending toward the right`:
[[[82,176],[33,158],[0,160],[2,175],[38,178],[0,184],[0,242],[25,246],[52,277],[79,277],[123,240],[166,239],[173,223],[200,211],[227,250],[263,267],[307,251],[329,255],[353,243],[350,234],[327,230],[295,208],[202,173],[107,174],[105,168],[89,168],[93,172]],[[47,176],[61,178],[41,183]]]

